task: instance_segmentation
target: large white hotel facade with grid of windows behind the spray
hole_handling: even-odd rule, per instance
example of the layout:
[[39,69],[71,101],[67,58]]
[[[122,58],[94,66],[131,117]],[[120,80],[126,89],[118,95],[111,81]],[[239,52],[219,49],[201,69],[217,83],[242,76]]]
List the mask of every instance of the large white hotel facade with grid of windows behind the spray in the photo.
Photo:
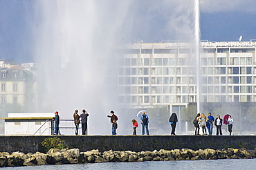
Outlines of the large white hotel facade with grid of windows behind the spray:
[[172,111],[197,102],[256,102],[256,42],[201,42],[199,75],[189,43],[131,44],[119,57],[120,104],[170,106]]

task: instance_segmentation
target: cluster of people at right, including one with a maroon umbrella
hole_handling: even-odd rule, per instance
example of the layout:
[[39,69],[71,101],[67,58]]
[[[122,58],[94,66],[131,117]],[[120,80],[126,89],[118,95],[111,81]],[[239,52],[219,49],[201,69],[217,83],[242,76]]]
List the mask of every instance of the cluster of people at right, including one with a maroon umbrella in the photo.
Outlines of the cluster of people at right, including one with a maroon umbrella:
[[208,117],[206,117],[204,113],[202,113],[201,115],[200,113],[197,113],[193,121],[195,127],[194,135],[199,135],[200,126],[203,132],[202,135],[207,135],[206,128],[208,129],[208,135],[212,135],[213,124],[217,128],[216,135],[222,135],[222,124],[228,124],[228,131],[231,135],[233,122],[234,120],[231,115],[225,115],[223,119],[220,115],[217,115],[216,119],[214,119],[211,113],[208,113]]

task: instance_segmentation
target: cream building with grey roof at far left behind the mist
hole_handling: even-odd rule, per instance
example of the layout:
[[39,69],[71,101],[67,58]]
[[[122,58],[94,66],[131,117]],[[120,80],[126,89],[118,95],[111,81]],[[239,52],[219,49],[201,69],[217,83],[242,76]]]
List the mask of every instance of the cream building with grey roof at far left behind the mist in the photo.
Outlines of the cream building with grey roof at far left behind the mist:
[[35,104],[35,75],[11,59],[0,60],[0,104]]

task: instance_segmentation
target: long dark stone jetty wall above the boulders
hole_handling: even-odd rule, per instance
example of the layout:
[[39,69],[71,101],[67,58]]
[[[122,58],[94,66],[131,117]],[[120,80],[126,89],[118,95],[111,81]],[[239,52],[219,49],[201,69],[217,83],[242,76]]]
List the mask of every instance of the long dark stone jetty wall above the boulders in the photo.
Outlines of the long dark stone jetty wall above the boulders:
[[[0,152],[35,153],[42,151],[41,142],[53,136],[0,136]],[[58,136],[69,148],[80,151],[98,149],[104,151],[154,151],[159,149],[255,149],[256,136],[194,136],[194,135],[66,135]]]

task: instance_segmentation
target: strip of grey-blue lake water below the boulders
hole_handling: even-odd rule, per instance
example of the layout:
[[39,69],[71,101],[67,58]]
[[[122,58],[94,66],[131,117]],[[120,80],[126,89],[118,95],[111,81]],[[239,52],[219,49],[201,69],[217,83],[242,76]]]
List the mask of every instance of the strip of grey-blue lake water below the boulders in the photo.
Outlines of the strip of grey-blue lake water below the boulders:
[[176,160],[176,161],[148,161],[148,162],[104,162],[95,164],[64,164],[64,165],[46,165],[35,167],[6,167],[1,169],[37,169],[37,170],[55,170],[55,169],[254,169],[256,159],[246,160]]

